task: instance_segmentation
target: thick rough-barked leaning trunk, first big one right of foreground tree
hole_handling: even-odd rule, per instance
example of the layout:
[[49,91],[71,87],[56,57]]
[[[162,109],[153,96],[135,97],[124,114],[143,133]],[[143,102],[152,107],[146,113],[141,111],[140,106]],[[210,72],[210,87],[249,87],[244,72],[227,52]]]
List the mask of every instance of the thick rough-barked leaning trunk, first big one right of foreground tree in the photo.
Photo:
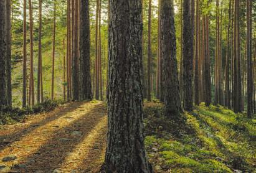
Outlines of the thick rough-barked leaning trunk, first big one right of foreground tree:
[[166,106],[166,116],[177,116],[181,111],[181,100],[179,98],[173,0],[162,0],[161,11],[164,105]]

